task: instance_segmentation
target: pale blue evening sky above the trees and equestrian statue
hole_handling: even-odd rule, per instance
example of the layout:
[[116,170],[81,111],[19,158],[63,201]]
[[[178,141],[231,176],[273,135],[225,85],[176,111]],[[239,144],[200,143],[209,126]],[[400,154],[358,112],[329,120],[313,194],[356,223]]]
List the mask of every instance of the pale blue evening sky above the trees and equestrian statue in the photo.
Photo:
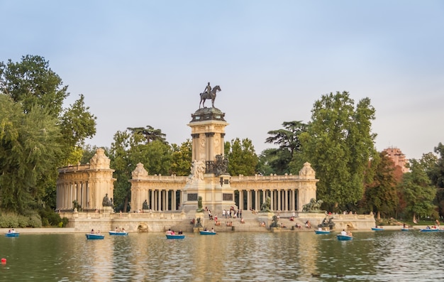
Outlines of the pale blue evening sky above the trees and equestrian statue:
[[0,0],[0,11],[0,62],[48,60],[65,106],[84,94],[97,117],[91,145],[148,125],[191,139],[207,82],[221,87],[225,140],[256,153],[275,147],[268,131],[343,91],[371,99],[378,151],[421,158],[444,143],[444,1]]

